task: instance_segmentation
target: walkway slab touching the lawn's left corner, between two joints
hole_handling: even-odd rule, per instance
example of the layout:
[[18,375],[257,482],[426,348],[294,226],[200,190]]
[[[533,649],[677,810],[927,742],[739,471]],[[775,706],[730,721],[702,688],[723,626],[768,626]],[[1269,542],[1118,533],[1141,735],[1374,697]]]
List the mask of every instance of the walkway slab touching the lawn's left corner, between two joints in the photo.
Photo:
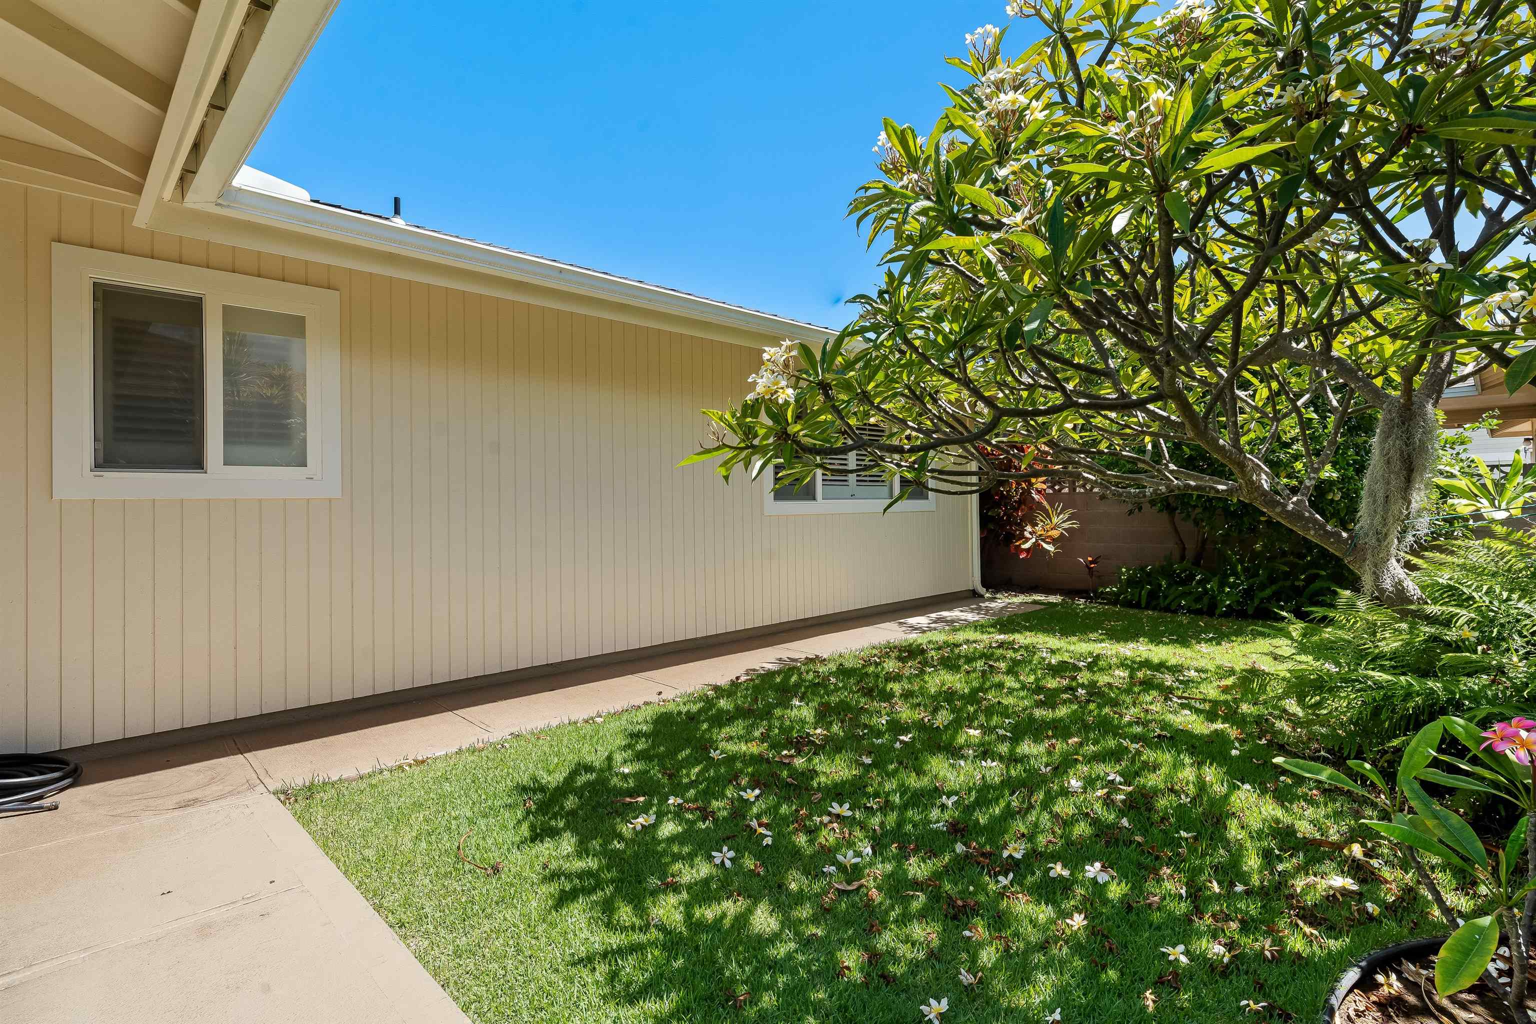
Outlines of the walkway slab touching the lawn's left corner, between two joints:
[[344,778],[487,738],[484,726],[436,700],[369,708],[235,737],[267,789]]

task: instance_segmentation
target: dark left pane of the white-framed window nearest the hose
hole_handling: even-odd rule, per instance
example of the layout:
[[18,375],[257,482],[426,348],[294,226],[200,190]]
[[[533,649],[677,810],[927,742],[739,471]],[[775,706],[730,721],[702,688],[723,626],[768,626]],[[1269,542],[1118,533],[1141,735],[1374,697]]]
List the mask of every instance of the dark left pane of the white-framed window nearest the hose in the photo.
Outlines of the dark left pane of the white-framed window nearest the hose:
[[92,286],[98,470],[203,468],[203,299]]

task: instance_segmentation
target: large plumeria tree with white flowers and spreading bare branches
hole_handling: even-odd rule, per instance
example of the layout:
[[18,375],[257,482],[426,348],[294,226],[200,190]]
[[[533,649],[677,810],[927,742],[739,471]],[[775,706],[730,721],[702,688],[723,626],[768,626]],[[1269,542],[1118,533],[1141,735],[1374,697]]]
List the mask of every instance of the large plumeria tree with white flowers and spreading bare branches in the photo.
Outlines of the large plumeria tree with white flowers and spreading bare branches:
[[[949,58],[963,84],[926,135],[885,121],[851,204],[885,249],[879,289],[825,345],[768,350],[693,459],[797,481],[857,451],[938,493],[1044,476],[1226,497],[1413,600],[1436,404],[1488,367],[1536,370],[1531,9],[1009,14]],[[1341,524],[1312,494],[1358,416],[1372,467]]]

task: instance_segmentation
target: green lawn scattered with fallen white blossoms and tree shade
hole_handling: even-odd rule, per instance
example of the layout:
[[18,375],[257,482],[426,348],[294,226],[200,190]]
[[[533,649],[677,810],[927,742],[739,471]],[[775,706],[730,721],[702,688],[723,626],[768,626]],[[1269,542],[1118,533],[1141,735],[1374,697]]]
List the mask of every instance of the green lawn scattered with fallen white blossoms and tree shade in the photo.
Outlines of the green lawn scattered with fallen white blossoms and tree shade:
[[479,1022],[1310,1021],[1438,923],[1395,866],[1307,843],[1358,838],[1350,806],[1223,691],[1283,645],[1057,603],[289,800]]

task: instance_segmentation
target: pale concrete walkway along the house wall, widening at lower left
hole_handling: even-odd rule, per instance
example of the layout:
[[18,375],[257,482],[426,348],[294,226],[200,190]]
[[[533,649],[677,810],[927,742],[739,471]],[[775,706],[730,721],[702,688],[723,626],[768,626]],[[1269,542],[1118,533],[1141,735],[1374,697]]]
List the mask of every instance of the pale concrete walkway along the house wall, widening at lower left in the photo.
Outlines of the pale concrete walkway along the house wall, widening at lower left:
[[0,818],[0,1021],[462,1022],[272,789],[1034,608],[949,602],[89,760],[58,811]]

